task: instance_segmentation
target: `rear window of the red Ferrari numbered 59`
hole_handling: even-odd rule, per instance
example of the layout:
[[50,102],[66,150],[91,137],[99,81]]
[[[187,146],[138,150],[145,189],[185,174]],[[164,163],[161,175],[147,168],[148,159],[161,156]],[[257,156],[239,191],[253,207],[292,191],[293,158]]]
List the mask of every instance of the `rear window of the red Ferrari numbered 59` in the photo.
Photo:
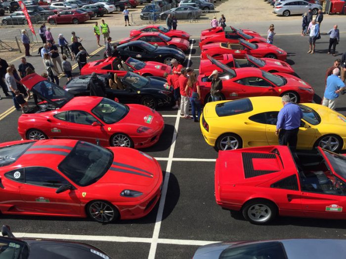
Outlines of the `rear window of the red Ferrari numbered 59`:
[[17,161],[17,159],[34,143],[35,142],[29,142],[0,148],[0,167],[10,165]]

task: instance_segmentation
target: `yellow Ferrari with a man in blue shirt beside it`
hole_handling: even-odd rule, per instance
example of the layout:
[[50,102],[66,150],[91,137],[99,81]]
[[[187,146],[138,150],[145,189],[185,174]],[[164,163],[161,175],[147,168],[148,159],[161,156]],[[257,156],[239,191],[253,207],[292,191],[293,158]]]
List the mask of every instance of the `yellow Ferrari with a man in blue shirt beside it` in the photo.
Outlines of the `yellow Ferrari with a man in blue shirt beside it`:
[[[334,152],[346,148],[346,117],[318,104],[298,104],[303,119],[299,149],[316,146]],[[278,145],[275,135],[281,97],[260,96],[207,103],[200,119],[206,142],[217,150]]]

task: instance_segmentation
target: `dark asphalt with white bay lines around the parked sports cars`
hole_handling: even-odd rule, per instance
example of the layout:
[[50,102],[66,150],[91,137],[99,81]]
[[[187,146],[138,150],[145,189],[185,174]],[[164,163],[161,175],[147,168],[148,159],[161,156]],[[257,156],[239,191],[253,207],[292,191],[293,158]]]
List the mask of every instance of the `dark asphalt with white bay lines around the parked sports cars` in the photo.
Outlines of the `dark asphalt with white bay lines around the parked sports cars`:
[[[195,40],[184,65],[198,70],[200,51],[198,39]],[[306,54],[307,37],[300,35],[275,36],[274,44],[289,53],[288,62],[314,87],[315,102],[320,102],[325,71],[341,53],[338,57],[326,54],[325,36],[316,43],[313,55]],[[63,85],[66,79],[61,82]],[[344,96],[340,97],[338,107],[345,114]],[[180,118],[180,111],[166,108],[160,112],[166,123],[164,133],[157,145],[143,151],[160,161],[165,184],[160,203],[147,217],[105,225],[88,219],[19,216],[1,216],[1,222],[10,225],[19,236],[26,233],[33,237],[81,240],[122,259],[188,259],[198,246],[217,241],[346,238],[345,221],[278,218],[269,225],[258,226],[222,210],[214,197],[217,153],[203,140],[199,124]],[[17,133],[20,114],[15,111],[1,120],[0,142],[20,139]]]

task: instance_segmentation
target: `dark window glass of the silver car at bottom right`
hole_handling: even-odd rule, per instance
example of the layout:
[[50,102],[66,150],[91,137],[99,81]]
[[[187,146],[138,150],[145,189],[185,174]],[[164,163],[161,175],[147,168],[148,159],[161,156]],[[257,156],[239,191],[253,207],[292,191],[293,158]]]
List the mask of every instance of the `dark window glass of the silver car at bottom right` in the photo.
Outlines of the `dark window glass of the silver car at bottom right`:
[[222,251],[219,259],[272,258],[287,259],[281,242],[263,242],[251,245],[231,246]]

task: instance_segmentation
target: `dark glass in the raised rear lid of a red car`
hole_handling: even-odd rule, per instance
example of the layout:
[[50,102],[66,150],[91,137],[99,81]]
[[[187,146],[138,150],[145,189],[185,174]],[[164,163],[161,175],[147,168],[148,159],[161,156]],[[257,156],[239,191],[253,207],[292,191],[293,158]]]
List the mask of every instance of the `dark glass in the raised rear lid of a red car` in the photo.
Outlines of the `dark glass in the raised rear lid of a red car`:
[[57,108],[63,107],[73,98],[72,94],[47,80],[35,84],[32,91]]

